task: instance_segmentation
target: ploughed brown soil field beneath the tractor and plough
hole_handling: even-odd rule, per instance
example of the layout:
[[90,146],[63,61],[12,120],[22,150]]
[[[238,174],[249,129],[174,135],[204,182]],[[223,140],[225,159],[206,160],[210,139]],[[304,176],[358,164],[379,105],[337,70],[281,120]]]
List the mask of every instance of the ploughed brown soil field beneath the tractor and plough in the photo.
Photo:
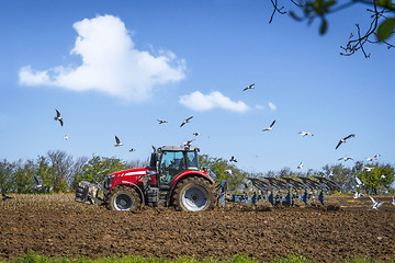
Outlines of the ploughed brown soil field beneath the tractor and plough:
[[395,206],[391,197],[382,201],[379,210],[371,209],[369,197],[327,196],[327,204],[316,207],[236,204],[206,213],[145,208],[132,214],[76,203],[72,195],[16,195],[0,201],[0,261],[27,251],[71,259],[390,260],[395,259]]

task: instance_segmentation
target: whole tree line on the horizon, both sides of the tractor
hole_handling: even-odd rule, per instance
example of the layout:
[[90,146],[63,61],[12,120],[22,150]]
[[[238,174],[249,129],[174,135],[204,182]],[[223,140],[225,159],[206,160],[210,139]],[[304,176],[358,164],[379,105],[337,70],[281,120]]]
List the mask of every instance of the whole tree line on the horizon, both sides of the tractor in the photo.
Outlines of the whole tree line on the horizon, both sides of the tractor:
[[[297,178],[324,176],[341,186],[341,192],[352,191],[369,194],[392,193],[395,180],[395,169],[390,163],[356,161],[352,167],[345,163],[326,164],[321,170],[293,171],[283,168],[279,171],[261,173],[246,172],[235,163],[222,158],[207,155],[200,156],[200,165],[205,168],[210,175],[219,183],[228,182],[230,191],[241,190],[248,184],[248,178]],[[108,174],[133,168],[147,167],[149,160],[124,161],[119,158],[92,156],[91,158],[75,158],[61,150],[50,150],[36,159],[0,161],[0,192],[1,193],[64,193],[76,188],[79,182],[101,182]],[[371,169],[366,170],[369,167]],[[363,185],[356,188],[359,178]],[[42,187],[37,187],[35,179]]]

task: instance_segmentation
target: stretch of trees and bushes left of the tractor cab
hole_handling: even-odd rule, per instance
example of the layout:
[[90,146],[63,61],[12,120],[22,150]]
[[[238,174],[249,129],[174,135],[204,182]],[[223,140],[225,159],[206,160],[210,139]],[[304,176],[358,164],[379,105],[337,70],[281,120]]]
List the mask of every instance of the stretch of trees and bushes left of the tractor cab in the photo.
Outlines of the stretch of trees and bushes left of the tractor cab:
[[[148,160],[123,161],[117,158],[92,156],[74,158],[61,150],[50,150],[36,159],[0,161],[1,193],[65,193],[74,191],[79,182],[100,182],[108,174],[146,167]],[[42,185],[37,188],[36,178]]]

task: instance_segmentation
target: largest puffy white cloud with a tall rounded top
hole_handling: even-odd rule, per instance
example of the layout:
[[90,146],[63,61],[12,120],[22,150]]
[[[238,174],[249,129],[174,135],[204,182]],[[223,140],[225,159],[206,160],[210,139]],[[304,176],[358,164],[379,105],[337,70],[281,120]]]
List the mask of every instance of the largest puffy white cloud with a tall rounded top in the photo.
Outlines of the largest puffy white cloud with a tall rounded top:
[[135,48],[125,24],[115,16],[103,15],[76,22],[78,33],[71,55],[80,56],[77,68],[64,66],[34,71],[20,69],[24,85],[53,85],[72,91],[100,91],[129,101],[148,99],[157,84],[184,78],[185,62],[172,52],[158,56]]

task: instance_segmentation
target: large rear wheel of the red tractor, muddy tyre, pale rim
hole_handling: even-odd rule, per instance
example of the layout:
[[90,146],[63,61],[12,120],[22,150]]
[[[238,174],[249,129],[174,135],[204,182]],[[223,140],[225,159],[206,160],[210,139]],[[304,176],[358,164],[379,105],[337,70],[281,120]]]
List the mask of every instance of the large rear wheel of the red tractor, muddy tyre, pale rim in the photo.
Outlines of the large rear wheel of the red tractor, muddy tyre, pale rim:
[[202,178],[189,178],[179,182],[172,196],[172,204],[178,210],[211,210],[215,202],[214,185]]

